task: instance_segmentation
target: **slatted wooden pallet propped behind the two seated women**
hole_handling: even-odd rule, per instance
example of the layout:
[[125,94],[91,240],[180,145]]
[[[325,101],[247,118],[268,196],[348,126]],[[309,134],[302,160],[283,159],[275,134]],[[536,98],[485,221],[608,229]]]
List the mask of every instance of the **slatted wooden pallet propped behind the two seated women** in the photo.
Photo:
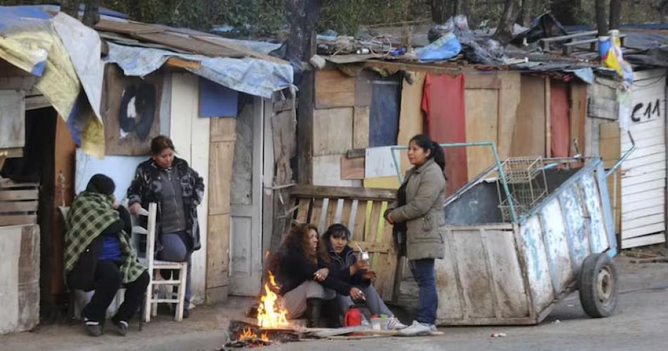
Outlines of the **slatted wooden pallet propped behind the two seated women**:
[[376,290],[383,300],[394,300],[397,267],[403,264],[394,248],[392,226],[385,222],[383,213],[396,198],[396,191],[298,185],[290,195],[297,207],[295,222],[314,224],[320,234],[335,223],[350,229],[350,247],[359,245],[369,253],[371,269],[377,275],[373,283]]

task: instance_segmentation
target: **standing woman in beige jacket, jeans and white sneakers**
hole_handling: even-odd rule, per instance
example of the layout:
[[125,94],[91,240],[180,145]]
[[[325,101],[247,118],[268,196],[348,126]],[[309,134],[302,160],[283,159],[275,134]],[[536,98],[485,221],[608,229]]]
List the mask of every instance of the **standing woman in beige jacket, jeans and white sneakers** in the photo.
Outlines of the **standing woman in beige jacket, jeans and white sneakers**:
[[418,314],[406,335],[435,331],[438,295],[435,259],[444,256],[445,156],[443,149],[424,134],[409,143],[413,168],[397,192],[397,202],[385,212],[394,225],[399,243],[406,243],[406,257],[420,288]]

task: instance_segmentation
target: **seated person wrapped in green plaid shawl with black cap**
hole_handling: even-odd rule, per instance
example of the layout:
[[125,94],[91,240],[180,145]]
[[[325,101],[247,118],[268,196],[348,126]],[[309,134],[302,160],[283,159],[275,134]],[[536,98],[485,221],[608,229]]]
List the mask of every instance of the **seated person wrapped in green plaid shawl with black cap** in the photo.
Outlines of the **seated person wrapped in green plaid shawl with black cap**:
[[149,281],[131,245],[129,212],[118,206],[114,190],[112,179],[96,174],[68,212],[65,281],[70,288],[95,291],[82,311],[91,336],[102,335],[107,308],[121,286],[125,288],[124,301],[112,321],[117,332],[125,336],[127,322],[141,305]]

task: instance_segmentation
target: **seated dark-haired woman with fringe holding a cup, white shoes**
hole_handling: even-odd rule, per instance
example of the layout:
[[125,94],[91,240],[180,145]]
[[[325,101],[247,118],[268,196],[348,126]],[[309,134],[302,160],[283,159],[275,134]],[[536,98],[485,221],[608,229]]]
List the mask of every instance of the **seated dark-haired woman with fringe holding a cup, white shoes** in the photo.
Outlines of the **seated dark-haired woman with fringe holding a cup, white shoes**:
[[[375,272],[368,270],[367,260],[357,260],[354,251],[348,245],[352,234],[343,224],[333,224],[322,236],[322,241],[330,257],[330,274],[340,281],[349,283],[359,288],[364,293],[364,305],[371,314],[385,314],[390,317],[387,322],[389,329],[406,328],[399,319],[394,317],[392,311],[387,308],[383,299],[373,288],[371,281],[375,279]],[[336,294],[336,302],[341,314],[346,314],[354,302],[349,296]]]

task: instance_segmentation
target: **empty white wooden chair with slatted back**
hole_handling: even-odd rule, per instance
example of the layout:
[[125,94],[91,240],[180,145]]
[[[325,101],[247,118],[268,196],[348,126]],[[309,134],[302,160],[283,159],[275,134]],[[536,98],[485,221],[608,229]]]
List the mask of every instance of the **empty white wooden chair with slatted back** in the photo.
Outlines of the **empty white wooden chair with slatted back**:
[[[148,287],[146,288],[146,302],[144,306],[144,321],[150,321],[150,317],[158,314],[158,303],[176,303],[176,314],[174,320],[181,321],[184,318],[184,300],[186,298],[186,275],[188,273],[188,262],[167,262],[155,260],[155,216],[158,212],[158,205],[150,203],[148,211],[141,211],[140,215],[148,217],[146,229],[141,226],[132,226],[132,233],[146,234],[146,257],[139,260],[141,264],[148,269],[150,276]],[[134,217],[134,216],[133,216]],[[179,271],[178,280],[155,279],[160,269],[176,269]],[[176,299],[159,298],[158,286],[178,286]],[[169,291],[171,293],[171,291]]]

